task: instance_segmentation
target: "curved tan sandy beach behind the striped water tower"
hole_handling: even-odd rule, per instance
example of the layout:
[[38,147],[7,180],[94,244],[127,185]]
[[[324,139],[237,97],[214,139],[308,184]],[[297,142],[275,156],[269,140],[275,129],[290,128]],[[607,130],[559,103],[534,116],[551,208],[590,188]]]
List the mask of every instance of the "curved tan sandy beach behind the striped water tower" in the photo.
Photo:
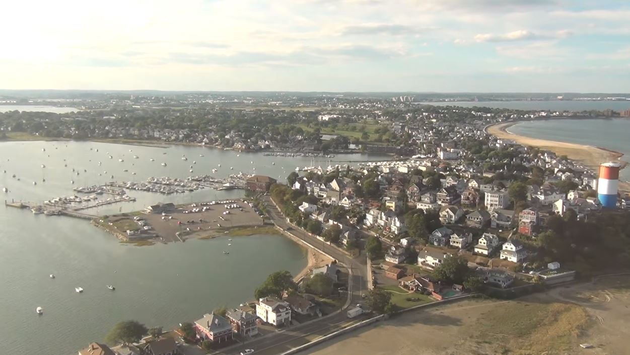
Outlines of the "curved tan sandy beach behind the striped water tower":
[[[501,139],[513,140],[517,144],[537,147],[549,150],[557,155],[566,155],[572,161],[580,162],[585,167],[597,174],[599,166],[602,162],[616,161],[621,164],[624,169],[628,163],[621,160],[623,153],[612,149],[596,147],[594,145],[581,145],[568,142],[558,142],[554,140],[545,140],[541,138],[531,138],[517,135],[508,130],[508,128],[521,123],[522,121],[508,121],[488,125],[485,128],[486,133]],[[622,193],[630,193],[630,183],[627,181],[619,181],[619,191]]]

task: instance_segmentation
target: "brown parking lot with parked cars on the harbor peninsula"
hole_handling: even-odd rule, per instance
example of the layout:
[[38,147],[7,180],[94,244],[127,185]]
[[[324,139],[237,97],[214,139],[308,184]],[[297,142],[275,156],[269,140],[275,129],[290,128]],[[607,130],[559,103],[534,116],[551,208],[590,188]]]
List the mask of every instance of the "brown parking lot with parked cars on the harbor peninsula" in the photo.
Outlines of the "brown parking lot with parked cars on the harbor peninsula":
[[[203,233],[232,227],[250,227],[262,225],[263,219],[247,202],[220,201],[210,205],[207,203],[191,203],[180,205],[172,211],[140,215],[152,232],[165,242],[178,241],[177,233],[183,239],[186,236],[202,236]],[[224,203],[225,202],[225,203]]]

